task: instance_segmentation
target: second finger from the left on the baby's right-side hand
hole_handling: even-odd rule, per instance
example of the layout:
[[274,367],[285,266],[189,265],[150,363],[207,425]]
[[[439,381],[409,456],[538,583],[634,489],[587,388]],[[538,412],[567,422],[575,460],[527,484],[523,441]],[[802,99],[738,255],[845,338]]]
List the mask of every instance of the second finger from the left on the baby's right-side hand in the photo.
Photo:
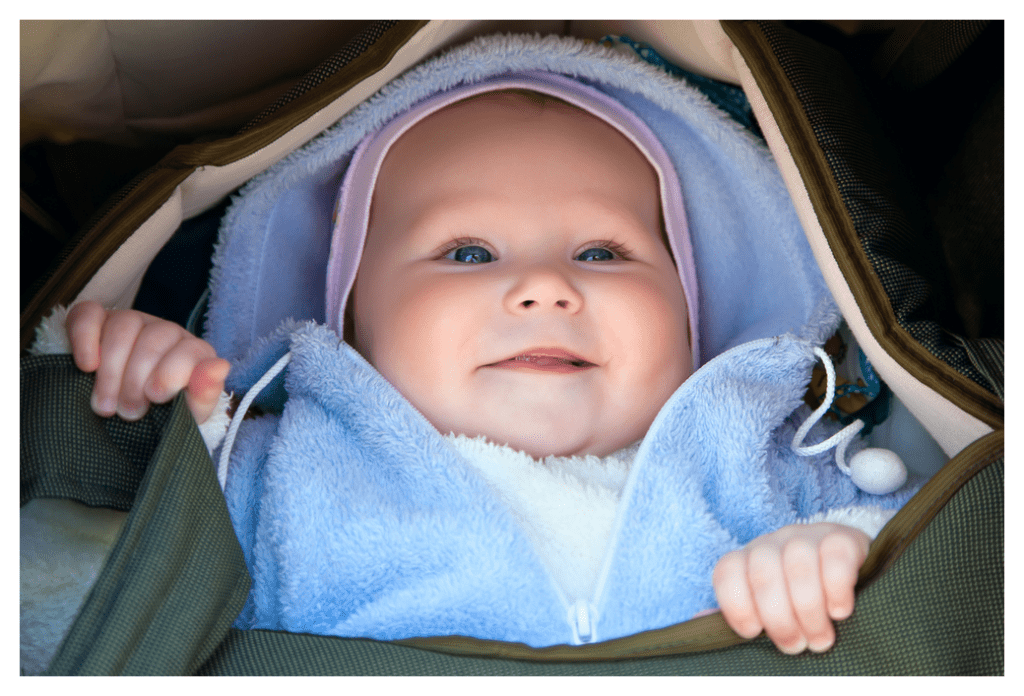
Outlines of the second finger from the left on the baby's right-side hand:
[[788,655],[802,653],[807,640],[790,604],[779,549],[772,545],[756,546],[750,550],[746,564],[754,604],[768,638]]

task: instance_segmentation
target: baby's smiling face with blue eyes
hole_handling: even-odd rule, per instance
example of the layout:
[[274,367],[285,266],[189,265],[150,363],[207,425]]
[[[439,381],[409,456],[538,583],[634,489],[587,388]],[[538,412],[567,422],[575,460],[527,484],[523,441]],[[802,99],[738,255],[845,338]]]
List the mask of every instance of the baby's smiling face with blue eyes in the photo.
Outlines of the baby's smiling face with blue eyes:
[[441,433],[534,456],[634,442],[690,373],[657,178],[612,127],[489,94],[381,169],[355,348]]

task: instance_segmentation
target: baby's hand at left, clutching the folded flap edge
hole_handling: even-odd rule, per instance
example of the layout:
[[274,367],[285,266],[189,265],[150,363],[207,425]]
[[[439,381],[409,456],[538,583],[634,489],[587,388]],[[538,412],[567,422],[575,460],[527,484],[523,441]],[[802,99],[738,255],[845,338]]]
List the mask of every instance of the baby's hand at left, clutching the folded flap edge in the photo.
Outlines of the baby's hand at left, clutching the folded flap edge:
[[96,373],[92,409],[99,416],[137,421],[151,403],[170,401],[182,389],[197,423],[217,405],[230,364],[182,327],[82,302],[68,312],[67,328],[75,364]]

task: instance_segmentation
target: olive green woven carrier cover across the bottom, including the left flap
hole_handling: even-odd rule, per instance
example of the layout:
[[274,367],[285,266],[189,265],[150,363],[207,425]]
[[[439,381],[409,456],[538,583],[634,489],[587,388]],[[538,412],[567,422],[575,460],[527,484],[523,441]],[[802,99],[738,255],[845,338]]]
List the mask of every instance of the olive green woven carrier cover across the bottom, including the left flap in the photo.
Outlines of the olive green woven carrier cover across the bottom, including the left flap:
[[[863,590],[824,655],[784,656],[761,637],[724,650],[628,660],[588,660],[586,648],[577,651],[583,660],[552,661],[541,651],[536,659],[506,659],[445,654],[442,639],[427,650],[229,628],[249,576],[184,400],[136,424],[99,419],[88,407],[91,383],[66,355],[23,360],[23,498],[134,501],[48,675],[1002,672],[1001,433],[979,445],[976,459],[991,464]],[[81,448],[89,454],[78,455]],[[97,502],[95,491],[109,502]],[[495,652],[502,644],[489,646]]]

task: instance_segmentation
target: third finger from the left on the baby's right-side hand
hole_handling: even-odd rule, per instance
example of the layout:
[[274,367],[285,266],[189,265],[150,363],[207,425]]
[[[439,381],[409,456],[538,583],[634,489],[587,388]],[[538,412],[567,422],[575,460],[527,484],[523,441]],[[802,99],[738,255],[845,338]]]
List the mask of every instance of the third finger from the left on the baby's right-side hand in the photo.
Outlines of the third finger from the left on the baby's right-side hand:
[[782,547],[782,567],[790,602],[807,646],[824,652],[835,642],[836,633],[825,613],[817,545],[801,536],[787,540]]

